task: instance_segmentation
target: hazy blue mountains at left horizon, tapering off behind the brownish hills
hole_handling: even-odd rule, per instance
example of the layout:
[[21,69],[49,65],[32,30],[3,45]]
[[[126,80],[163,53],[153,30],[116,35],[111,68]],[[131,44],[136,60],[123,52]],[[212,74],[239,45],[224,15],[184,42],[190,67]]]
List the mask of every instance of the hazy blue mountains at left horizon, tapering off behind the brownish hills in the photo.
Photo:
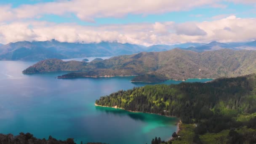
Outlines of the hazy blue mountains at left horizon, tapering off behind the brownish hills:
[[129,43],[62,43],[50,41],[22,41],[0,46],[0,60],[66,59],[89,56],[118,56],[144,51],[144,46]]

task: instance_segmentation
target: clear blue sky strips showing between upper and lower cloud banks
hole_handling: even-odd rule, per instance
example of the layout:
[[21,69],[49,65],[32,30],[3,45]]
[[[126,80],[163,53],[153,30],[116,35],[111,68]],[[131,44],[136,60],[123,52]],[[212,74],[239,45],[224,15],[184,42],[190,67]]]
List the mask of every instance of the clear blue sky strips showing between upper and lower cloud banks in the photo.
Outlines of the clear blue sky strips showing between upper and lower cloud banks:
[[[35,5],[38,3],[54,2],[56,0],[1,0],[0,5],[11,5],[12,8],[17,8],[21,5]],[[256,2],[255,2],[256,3]],[[240,18],[255,17],[255,5],[246,3],[220,2],[219,4],[225,7],[203,6],[192,8],[184,11],[174,11],[160,14],[127,14],[121,18],[106,17],[96,18],[95,22],[88,22],[78,19],[75,14],[67,16],[58,16],[55,14],[45,14],[36,20],[51,21],[55,23],[70,23],[75,22],[81,25],[100,25],[100,24],[127,24],[127,23],[154,23],[155,21],[175,21],[177,23],[187,21],[207,21],[214,19],[214,16],[228,16],[235,14]]]

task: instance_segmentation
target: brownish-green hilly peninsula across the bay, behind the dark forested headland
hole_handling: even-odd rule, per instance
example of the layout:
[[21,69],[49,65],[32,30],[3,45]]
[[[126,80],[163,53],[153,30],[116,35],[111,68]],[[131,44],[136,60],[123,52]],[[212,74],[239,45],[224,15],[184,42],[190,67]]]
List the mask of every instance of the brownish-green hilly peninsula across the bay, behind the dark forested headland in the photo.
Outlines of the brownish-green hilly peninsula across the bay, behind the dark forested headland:
[[25,69],[23,73],[50,71],[84,71],[59,78],[138,75],[135,80],[144,82],[234,77],[256,72],[256,51],[223,49],[197,53],[175,48],[170,51],[142,52],[89,63],[48,59]]

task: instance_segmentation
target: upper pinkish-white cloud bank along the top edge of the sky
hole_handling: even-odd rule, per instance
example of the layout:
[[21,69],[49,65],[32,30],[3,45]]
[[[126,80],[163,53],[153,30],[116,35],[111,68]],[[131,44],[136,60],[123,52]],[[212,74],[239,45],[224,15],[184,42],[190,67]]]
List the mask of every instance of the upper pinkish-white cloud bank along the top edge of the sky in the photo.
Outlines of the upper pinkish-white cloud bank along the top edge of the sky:
[[127,14],[157,14],[172,11],[186,11],[200,6],[216,6],[220,0],[59,0],[56,2],[0,7],[0,21],[29,19],[44,14],[64,16],[69,13],[84,21],[95,18],[122,17]]

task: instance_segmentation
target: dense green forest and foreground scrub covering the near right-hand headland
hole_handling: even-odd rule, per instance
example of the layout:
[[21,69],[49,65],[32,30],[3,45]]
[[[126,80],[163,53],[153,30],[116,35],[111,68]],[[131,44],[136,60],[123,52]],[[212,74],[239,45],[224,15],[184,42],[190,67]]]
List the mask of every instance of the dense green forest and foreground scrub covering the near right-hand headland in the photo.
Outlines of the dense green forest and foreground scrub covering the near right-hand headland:
[[217,140],[209,140],[215,136],[229,144],[256,143],[256,74],[209,83],[147,85],[101,97],[96,104],[172,115],[183,123],[197,123],[184,130],[187,134],[176,138],[178,141],[216,143]]

